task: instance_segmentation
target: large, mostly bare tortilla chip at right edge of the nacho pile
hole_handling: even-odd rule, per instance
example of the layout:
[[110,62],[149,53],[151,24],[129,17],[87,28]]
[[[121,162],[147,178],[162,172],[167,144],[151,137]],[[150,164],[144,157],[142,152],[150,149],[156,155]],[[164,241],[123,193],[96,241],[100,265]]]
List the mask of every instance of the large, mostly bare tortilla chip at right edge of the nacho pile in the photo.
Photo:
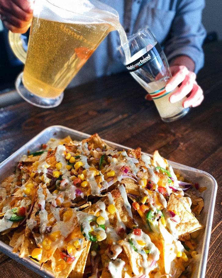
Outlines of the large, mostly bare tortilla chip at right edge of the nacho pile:
[[183,202],[178,199],[173,193],[170,194],[169,201],[167,203],[167,209],[178,214],[181,218],[180,223],[176,225],[178,236],[182,236],[185,233],[195,232],[204,228],[204,225],[200,224],[196,217],[187,211]]

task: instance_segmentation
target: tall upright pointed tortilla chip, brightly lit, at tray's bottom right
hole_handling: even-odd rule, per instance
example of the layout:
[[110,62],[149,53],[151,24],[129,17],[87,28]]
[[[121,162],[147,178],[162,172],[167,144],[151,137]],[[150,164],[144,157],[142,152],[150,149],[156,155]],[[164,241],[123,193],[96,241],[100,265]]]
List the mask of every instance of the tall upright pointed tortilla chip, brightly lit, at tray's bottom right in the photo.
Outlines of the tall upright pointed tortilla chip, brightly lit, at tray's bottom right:
[[[181,245],[181,250],[183,249],[182,244],[179,240],[175,239],[167,230],[164,228],[162,221],[158,221],[158,226],[160,234],[163,239],[163,257],[164,257],[164,269],[166,278],[173,276],[178,278],[180,274],[185,270],[184,261],[182,258],[177,258],[178,245]],[[169,276],[168,274],[171,274]]]

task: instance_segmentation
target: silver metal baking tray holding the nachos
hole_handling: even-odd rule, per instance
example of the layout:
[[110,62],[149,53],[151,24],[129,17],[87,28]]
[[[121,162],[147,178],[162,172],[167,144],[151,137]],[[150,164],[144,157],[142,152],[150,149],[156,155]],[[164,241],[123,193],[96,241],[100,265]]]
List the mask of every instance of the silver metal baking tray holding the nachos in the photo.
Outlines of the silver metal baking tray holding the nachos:
[[[82,139],[85,139],[90,136],[89,134],[79,132],[60,125],[54,125],[45,128],[42,132],[36,135],[33,139],[31,139],[28,143],[26,143],[24,146],[22,146],[19,150],[17,150],[14,154],[9,156],[9,158],[7,158],[0,164],[0,181],[2,181],[5,177],[7,177],[11,172],[14,171],[16,162],[20,160],[23,154],[27,153],[27,150],[38,150],[41,144],[46,143],[50,138],[64,138],[67,135],[70,135],[73,140],[77,141],[81,141]],[[116,149],[129,149],[126,146],[115,144],[107,140],[104,141]],[[201,231],[197,238],[197,251],[198,254],[200,254],[200,256],[197,256],[198,259],[195,261],[194,272],[192,275],[193,278],[204,278],[206,272],[210,232],[213,220],[213,211],[217,193],[217,182],[213,178],[213,176],[211,176],[207,172],[191,168],[173,161],[169,162],[172,165],[173,169],[176,170],[176,172],[179,172],[181,176],[184,176],[185,178],[193,182],[198,182],[201,186],[207,187],[207,190],[200,194],[200,196],[204,198],[204,208],[201,213],[200,221],[202,224],[205,225],[206,228]],[[35,271],[42,277],[54,277],[53,272],[46,266],[42,266],[40,270],[40,264],[38,263],[38,261],[35,261],[32,258],[19,258],[19,253],[14,254],[12,250],[12,247],[0,240],[0,251],[13,258],[14,260],[19,261],[20,263],[27,266],[29,269]]]

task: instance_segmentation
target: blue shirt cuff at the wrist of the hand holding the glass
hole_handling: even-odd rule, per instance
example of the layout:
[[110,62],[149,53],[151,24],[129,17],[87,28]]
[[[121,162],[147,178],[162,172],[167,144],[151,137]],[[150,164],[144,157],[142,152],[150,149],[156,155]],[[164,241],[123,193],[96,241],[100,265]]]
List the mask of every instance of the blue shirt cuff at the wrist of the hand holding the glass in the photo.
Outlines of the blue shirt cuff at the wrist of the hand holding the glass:
[[198,73],[198,71],[203,67],[204,65],[204,53],[203,51],[197,49],[194,46],[185,46],[178,48],[176,50],[173,50],[169,55],[167,55],[167,60],[170,61],[173,58],[176,58],[177,56],[186,55],[190,57],[194,63],[195,63],[195,73]]

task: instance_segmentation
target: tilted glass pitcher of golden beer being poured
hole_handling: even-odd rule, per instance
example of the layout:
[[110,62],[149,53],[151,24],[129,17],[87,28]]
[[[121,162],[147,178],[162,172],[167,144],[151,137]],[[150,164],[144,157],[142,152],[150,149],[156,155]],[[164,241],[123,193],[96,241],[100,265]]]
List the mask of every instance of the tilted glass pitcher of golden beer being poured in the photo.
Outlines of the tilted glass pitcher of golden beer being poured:
[[15,55],[25,64],[16,89],[27,102],[58,106],[63,91],[112,30],[118,13],[97,0],[35,0],[27,52],[9,31]]

